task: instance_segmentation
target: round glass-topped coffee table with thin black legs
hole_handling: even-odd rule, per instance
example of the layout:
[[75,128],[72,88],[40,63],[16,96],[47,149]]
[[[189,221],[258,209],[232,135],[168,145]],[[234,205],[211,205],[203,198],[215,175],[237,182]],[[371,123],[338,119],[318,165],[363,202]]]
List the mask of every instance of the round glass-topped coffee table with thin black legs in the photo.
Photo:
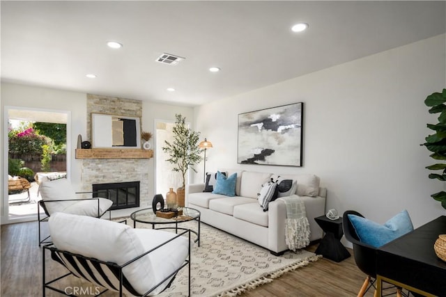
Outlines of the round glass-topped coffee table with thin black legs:
[[[134,211],[130,214],[130,218],[133,220],[133,227],[135,228],[137,222],[151,224],[152,229],[175,229],[175,232],[178,234],[178,230],[187,230],[183,227],[178,227],[178,224],[189,222],[190,220],[197,220],[198,228],[197,231],[190,230],[190,232],[197,235],[197,239],[195,242],[198,242],[198,246],[200,246],[200,216],[201,213],[197,209],[193,209],[190,207],[183,207],[183,215],[174,216],[173,218],[161,218],[156,216],[153,213],[152,208],[141,209],[138,211]],[[175,227],[161,227],[157,225],[168,225],[175,224]],[[155,227],[156,226],[156,227]]]

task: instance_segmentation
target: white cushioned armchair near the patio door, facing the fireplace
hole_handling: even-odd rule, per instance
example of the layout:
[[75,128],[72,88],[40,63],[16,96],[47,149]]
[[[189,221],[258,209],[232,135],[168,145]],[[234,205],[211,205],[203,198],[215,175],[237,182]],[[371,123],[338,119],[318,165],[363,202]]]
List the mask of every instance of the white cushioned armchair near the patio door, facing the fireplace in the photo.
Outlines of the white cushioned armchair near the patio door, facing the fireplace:
[[[42,239],[41,224],[47,222],[52,214],[63,212],[100,218],[113,204],[112,200],[105,198],[82,198],[82,195],[79,195],[82,193],[76,193],[66,178],[40,182],[39,192],[42,197],[42,200],[38,202],[37,209],[39,246],[42,243],[51,243],[51,241],[47,241],[51,235]],[[39,206],[45,211],[43,218],[40,217]]]

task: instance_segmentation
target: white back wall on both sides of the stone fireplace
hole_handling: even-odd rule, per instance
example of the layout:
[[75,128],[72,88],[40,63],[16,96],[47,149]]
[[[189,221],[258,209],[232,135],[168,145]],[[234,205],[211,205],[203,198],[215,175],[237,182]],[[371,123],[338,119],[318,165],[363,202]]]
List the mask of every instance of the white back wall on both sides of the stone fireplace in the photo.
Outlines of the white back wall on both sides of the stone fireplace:
[[[81,160],[75,159],[75,148],[77,145],[77,135],[86,137],[86,93],[71,92],[68,90],[55,90],[50,88],[40,88],[36,86],[26,86],[15,83],[1,83],[1,133],[5,131],[4,110],[5,106],[17,106],[27,109],[47,109],[54,111],[70,111],[71,113],[71,147],[70,150],[70,177],[75,188],[80,188],[81,180]],[[181,113],[192,121],[194,111],[191,107],[174,106],[168,104],[158,104],[143,102],[142,129],[151,131],[154,134],[155,119],[175,120],[175,114]],[[2,136],[2,142],[7,141],[7,136]],[[153,144],[153,140],[151,140]],[[6,143],[0,145],[2,168],[7,165],[3,158],[7,155]],[[156,154],[156,152],[154,152]],[[7,160],[7,159],[6,159]],[[149,195],[153,197],[155,180],[154,159],[148,161],[151,180],[149,181]],[[3,166],[4,165],[4,166]],[[7,169],[1,171],[1,191],[2,198],[7,197],[8,191],[5,187],[7,181]],[[6,174],[5,174],[6,172]],[[1,199],[1,223],[10,223],[6,217],[6,207],[4,199]]]

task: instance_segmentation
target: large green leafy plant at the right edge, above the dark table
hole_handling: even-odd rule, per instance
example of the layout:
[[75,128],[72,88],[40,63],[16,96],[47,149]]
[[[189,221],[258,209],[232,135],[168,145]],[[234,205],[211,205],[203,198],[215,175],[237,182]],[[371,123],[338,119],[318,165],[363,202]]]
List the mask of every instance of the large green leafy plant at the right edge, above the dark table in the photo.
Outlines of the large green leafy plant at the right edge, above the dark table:
[[[426,106],[431,107],[429,109],[429,113],[440,113],[438,117],[438,123],[436,125],[427,124],[429,129],[435,131],[435,134],[431,134],[425,138],[426,143],[423,145],[433,154],[430,156],[433,159],[441,160],[443,163],[436,163],[431,166],[426,166],[429,170],[443,170],[441,174],[431,173],[429,174],[430,179],[438,179],[442,182],[446,182],[446,134],[445,134],[445,125],[446,125],[446,88],[443,89],[443,93],[432,93],[427,96],[424,100],[424,104]],[[446,192],[440,191],[438,193],[432,194],[431,197],[439,202],[441,202],[441,206],[446,209]]]

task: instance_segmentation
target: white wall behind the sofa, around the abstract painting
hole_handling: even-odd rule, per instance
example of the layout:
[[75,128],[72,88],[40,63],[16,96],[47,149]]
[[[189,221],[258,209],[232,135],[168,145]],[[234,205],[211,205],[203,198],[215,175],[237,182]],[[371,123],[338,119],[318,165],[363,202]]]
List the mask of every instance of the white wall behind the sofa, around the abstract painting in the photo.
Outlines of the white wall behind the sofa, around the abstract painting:
[[[438,35],[199,106],[196,128],[213,143],[206,169],[314,173],[328,188],[327,209],[355,209],[380,223],[402,209],[415,226],[445,214],[430,197],[445,183],[427,177],[433,160],[420,146],[426,123],[435,122],[424,99],[446,86],[445,54]],[[294,102],[305,102],[303,167],[238,164],[238,113]]]

